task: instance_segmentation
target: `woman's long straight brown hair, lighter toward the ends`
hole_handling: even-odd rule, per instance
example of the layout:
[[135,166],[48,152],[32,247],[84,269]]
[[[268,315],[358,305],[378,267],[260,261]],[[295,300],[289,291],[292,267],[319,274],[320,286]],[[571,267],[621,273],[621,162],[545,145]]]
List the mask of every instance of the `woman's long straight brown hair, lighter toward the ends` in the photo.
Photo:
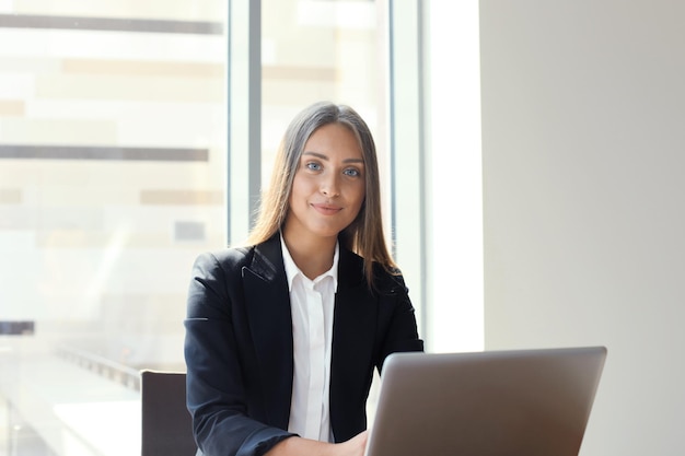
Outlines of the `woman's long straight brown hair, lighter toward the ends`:
[[262,194],[259,213],[247,243],[251,245],[263,243],[282,227],[288,215],[292,182],[304,144],[317,128],[328,124],[339,124],[349,128],[361,148],[365,169],[364,202],[357,218],[340,232],[338,238],[344,247],[363,258],[367,282],[373,287],[374,262],[391,272],[396,272],[397,266],[387,249],[383,233],[375,143],[367,122],[347,105],[315,103],[292,119],[276,154],[269,187]]

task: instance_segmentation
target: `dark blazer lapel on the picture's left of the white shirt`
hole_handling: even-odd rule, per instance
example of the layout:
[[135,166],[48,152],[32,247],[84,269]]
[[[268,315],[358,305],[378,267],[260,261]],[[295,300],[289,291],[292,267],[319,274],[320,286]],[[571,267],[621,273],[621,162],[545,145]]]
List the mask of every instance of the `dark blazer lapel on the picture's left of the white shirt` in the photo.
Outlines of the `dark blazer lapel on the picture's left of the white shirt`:
[[292,394],[292,317],[279,236],[255,247],[243,268],[249,330],[272,425],[288,429]]

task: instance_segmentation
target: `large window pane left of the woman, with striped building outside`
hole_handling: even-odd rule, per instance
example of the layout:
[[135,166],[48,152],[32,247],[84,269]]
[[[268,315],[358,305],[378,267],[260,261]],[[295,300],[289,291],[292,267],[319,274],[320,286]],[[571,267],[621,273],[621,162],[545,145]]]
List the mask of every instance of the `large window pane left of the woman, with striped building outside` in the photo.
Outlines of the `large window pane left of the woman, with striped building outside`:
[[138,370],[184,369],[225,243],[225,17],[0,1],[0,455],[139,454]]

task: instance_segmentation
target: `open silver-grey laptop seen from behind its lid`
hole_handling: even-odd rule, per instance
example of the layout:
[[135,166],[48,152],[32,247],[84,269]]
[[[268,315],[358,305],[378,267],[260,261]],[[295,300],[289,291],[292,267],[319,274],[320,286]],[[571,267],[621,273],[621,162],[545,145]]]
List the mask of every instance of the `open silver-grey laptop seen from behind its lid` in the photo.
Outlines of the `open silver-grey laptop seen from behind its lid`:
[[394,353],[367,456],[578,456],[605,347]]

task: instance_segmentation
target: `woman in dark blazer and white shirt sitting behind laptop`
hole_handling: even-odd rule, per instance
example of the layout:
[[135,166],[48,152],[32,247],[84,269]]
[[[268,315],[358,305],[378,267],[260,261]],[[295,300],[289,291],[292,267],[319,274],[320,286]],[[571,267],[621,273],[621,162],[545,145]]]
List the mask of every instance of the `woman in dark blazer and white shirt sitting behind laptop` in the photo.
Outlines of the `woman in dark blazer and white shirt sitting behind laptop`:
[[185,356],[200,452],[361,456],[373,369],[423,349],[362,118],[330,103],[301,112],[246,246],[199,256],[193,273]]

